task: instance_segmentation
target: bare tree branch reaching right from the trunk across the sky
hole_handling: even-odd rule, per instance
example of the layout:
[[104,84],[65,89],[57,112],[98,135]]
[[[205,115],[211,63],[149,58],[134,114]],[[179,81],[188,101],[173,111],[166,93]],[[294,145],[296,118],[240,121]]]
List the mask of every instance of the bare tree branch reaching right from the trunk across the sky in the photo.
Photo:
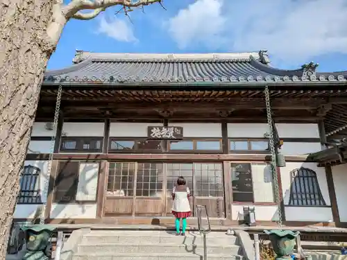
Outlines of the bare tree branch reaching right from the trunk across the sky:
[[[161,3],[162,0],[73,0],[65,8],[62,8],[62,13],[66,19],[92,19],[99,15],[102,9],[111,6],[124,6],[129,8],[136,8],[139,6],[149,6],[152,3]],[[100,10],[101,9],[101,10]],[[82,14],[81,10],[95,10],[91,14]],[[99,11],[96,11],[99,10]]]

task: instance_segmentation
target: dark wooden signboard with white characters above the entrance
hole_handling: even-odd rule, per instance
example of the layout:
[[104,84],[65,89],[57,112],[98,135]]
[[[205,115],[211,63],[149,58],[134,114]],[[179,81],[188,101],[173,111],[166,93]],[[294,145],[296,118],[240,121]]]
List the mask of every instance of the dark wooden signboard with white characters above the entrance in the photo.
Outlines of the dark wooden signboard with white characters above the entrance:
[[183,128],[179,126],[149,126],[149,139],[183,139]]

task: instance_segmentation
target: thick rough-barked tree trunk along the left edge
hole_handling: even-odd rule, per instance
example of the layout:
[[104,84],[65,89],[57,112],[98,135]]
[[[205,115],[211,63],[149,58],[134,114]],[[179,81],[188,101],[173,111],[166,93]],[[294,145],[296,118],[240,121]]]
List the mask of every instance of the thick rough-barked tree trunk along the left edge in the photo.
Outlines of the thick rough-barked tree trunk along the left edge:
[[0,260],[6,257],[40,85],[53,52],[42,40],[53,4],[52,0],[0,1]]

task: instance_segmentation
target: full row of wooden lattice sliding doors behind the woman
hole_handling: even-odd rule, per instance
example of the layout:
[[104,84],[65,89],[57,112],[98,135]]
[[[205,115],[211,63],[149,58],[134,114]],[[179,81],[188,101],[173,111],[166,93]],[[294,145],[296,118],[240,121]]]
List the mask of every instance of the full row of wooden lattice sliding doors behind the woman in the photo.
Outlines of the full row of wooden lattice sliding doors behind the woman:
[[225,218],[221,163],[110,162],[105,216],[172,216],[171,192],[179,176],[193,195],[191,209],[206,205],[208,214]]

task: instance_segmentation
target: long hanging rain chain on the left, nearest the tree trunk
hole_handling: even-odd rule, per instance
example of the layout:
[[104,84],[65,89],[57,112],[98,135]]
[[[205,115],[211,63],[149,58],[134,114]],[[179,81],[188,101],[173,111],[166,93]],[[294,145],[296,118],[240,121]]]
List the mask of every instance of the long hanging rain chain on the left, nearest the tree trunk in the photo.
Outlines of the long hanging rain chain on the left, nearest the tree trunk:
[[61,98],[62,98],[62,86],[60,85],[58,88],[56,110],[54,112],[54,119],[53,119],[53,135],[51,137],[51,153],[49,153],[46,180],[44,180],[44,187],[42,189],[42,198],[44,198],[44,204],[42,205],[42,211],[41,211],[41,216],[40,216],[40,224],[41,225],[44,225],[44,220],[46,220],[45,211],[46,211],[46,204],[47,204],[47,197],[48,197],[49,180],[51,178],[54,146],[56,144],[56,132],[57,132],[57,126],[58,126]]

